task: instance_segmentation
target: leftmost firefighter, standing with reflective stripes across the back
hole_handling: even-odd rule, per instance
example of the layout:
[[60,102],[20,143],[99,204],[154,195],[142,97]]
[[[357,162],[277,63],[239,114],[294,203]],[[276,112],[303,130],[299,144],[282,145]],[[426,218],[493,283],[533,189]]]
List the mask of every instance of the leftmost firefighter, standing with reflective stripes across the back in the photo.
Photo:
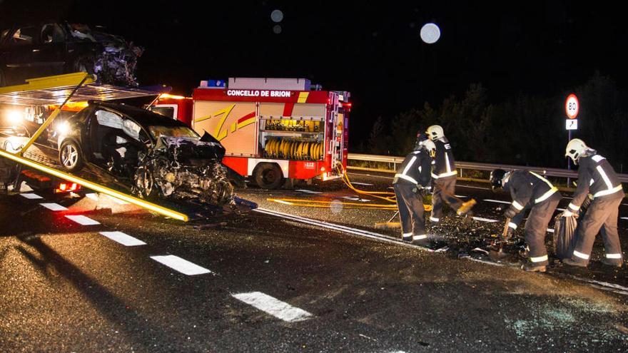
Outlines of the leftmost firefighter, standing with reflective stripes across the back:
[[425,135],[417,135],[414,150],[405,157],[393,179],[401,222],[401,239],[423,246],[428,245],[429,241],[425,232],[422,194],[430,190],[432,158],[428,150],[433,148],[434,143]]

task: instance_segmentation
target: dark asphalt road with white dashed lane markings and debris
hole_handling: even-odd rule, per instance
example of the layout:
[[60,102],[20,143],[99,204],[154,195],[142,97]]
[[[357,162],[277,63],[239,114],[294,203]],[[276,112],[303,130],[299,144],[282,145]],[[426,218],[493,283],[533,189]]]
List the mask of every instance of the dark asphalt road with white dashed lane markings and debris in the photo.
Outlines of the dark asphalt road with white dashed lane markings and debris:
[[[366,190],[390,184],[352,179],[373,184],[356,185]],[[355,195],[339,183],[239,190],[288,215],[203,227],[93,195],[1,198],[0,351],[626,352],[627,270],[594,262],[536,274],[481,262],[481,252],[458,258],[501,227],[487,221],[500,220],[500,203],[485,200],[507,200],[468,186],[457,194],[480,201],[478,219],[450,214],[430,229],[447,252],[375,230],[393,212],[350,208],[341,202],[376,201],[343,198]],[[268,198],[341,201],[299,208]],[[625,241],[628,221],[619,225]]]

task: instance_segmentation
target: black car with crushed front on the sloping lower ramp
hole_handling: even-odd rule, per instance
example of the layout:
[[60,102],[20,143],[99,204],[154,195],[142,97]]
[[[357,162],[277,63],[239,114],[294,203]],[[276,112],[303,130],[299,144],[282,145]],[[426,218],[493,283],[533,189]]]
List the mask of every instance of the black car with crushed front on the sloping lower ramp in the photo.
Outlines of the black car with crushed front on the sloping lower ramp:
[[96,166],[140,198],[233,205],[225,149],[180,121],[120,103],[90,102],[54,128],[62,168]]

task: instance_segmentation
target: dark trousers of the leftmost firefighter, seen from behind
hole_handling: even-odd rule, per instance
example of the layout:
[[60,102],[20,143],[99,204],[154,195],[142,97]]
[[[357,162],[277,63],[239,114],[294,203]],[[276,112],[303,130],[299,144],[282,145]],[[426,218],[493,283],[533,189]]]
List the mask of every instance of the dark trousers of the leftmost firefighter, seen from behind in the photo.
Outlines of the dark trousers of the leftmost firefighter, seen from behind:
[[395,195],[397,195],[397,208],[403,240],[422,240],[427,238],[425,232],[425,215],[423,200],[412,189],[415,185],[410,183],[395,183]]

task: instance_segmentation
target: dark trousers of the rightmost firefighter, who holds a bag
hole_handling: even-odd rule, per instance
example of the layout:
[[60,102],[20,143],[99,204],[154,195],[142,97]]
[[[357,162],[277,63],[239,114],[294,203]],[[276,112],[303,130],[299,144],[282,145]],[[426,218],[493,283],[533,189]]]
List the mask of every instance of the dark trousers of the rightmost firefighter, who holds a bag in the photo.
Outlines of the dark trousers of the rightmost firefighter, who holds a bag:
[[617,233],[617,217],[622,200],[623,198],[595,198],[591,202],[578,225],[572,260],[588,263],[595,236],[597,232],[601,232],[607,260],[622,263],[622,246]]

